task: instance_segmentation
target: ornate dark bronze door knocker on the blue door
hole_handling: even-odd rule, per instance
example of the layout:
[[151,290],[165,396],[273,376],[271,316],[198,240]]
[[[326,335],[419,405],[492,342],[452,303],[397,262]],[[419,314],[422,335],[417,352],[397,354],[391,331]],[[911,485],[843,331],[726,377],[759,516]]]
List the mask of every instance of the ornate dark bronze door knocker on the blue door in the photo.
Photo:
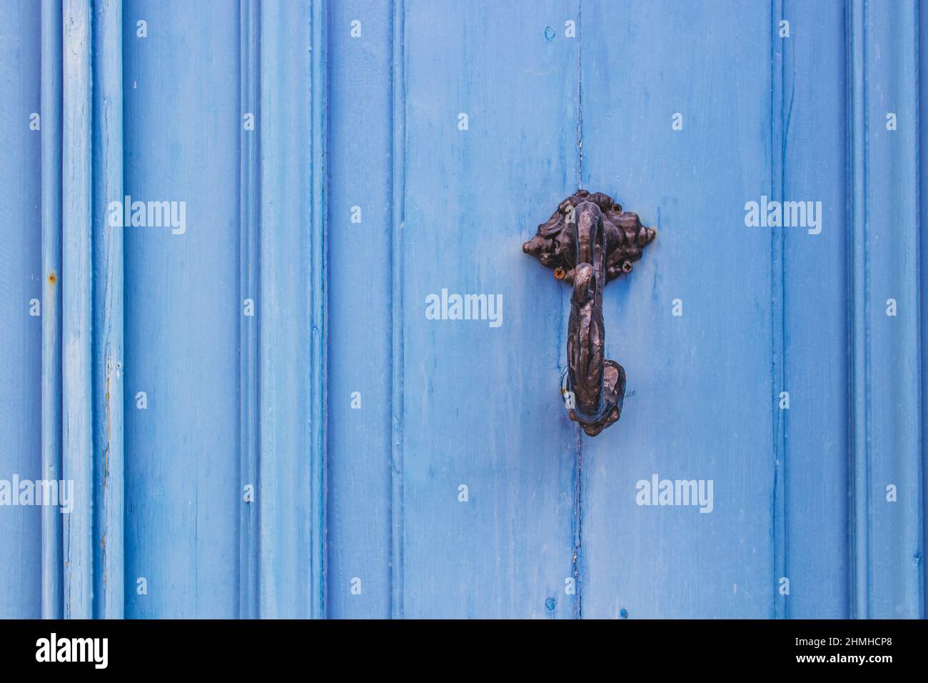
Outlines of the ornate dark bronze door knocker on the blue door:
[[578,190],[538,226],[522,251],[554,277],[574,286],[567,333],[567,391],[571,419],[595,437],[622,414],[625,368],[605,358],[602,289],[641,258],[657,230],[641,225],[602,192]]

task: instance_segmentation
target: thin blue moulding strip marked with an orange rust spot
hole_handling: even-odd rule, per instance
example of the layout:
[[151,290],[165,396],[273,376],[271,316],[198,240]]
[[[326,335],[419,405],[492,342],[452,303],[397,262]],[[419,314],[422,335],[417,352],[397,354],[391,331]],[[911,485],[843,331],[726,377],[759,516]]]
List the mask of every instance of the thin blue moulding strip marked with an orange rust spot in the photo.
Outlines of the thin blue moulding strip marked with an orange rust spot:
[[[61,3],[42,3],[42,477],[61,479]],[[42,508],[42,617],[60,619],[61,511]]]

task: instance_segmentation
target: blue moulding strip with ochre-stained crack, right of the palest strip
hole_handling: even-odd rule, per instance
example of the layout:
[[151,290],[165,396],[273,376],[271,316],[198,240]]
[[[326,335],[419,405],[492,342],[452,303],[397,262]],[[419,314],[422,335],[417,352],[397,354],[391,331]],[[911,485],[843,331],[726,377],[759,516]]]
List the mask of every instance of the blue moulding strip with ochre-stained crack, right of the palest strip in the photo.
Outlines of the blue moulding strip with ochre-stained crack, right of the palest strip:
[[[123,614],[122,227],[110,202],[122,198],[122,0],[97,0],[93,69],[94,614]],[[86,410],[92,410],[88,405]]]

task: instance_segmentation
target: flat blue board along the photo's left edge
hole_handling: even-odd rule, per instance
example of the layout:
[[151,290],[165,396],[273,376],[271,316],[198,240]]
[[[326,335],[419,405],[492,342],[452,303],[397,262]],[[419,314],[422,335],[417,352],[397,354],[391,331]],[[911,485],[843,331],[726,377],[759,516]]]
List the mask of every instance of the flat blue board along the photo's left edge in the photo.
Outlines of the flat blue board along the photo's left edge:
[[[36,619],[42,589],[51,580],[43,552],[45,519],[19,502],[18,483],[43,476],[40,397],[45,315],[39,181],[43,132],[33,130],[40,112],[39,7],[28,0],[0,3],[0,618]],[[60,26],[60,24],[59,24]],[[53,129],[54,129],[54,123]],[[58,169],[60,166],[58,166]],[[59,171],[60,172],[60,171]],[[51,308],[54,320],[55,307]],[[16,488],[14,488],[16,487]],[[47,508],[61,517],[58,507]],[[59,541],[59,539],[58,539]]]

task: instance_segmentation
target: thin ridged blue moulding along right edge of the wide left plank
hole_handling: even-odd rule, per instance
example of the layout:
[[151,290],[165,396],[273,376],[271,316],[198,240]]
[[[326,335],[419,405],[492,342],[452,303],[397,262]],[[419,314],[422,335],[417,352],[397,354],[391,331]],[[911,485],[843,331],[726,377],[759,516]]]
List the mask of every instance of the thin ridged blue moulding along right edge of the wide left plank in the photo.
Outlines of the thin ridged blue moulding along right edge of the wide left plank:
[[[239,26],[240,41],[240,99],[238,116],[242,122],[241,147],[239,153],[239,324],[238,343],[240,357],[239,376],[239,561],[238,561],[238,616],[255,619],[258,616],[258,507],[253,493],[250,501],[245,500],[245,488],[250,491],[258,487],[258,408],[257,408],[257,341],[258,318],[246,316],[245,302],[255,300],[258,287],[257,203],[258,188],[258,129],[261,116],[259,107],[260,45],[258,36],[258,0],[241,0]],[[245,116],[253,116],[251,130],[245,128]]]

